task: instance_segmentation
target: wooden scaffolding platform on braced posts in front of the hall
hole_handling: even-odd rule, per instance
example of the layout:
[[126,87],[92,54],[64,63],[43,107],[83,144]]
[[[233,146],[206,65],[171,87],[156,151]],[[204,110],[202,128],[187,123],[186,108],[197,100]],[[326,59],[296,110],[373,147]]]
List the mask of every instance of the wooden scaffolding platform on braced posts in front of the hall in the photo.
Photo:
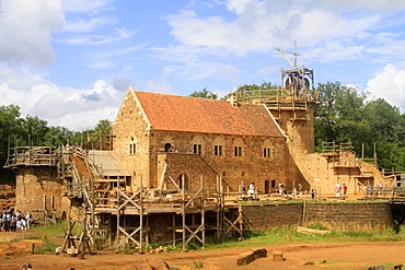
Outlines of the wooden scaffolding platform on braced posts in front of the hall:
[[[88,244],[96,247],[104,242],[111,245],[115,238],[117,250],[128,247],[143,251],[150,242],[150,216],[159,214],[172,215],[172,225],[167,227],[172,231],[172,244],[176,245],[180,236],[184,250],[190,242],[199,243],[204,248],[207,230],[215,230],[218,239],[230,232],[236,232],[239,238],[243,237],[242,208],[234,203],[225,206],[223,181],[219,176],[215,187],[205,186],[204,176],[200,176],[198,189],[187,190],[184,176],[177,185],[165,169],[166,177],[162,177],[157,189],[144,189],[140,178],[138,190],[127,190],[124,178],[101,178],[101,174],[95,173],[100,169],[94,168],[91,162],[85,164],[89,172],[93,172],[92,178],[82,179],[72,159],[63,161],[69,163],[63,165],[69,168],[69,173],[65,173],[65,193],[70,199],[79,199],[85,213],[80,223],[83,235],[83,243],[79,244],[81,247]],[[175,189],[164,189],[164,180],[173,184]],[[232,214],[227,216],[224,209]],[[207,214],[216,215],[215,222],[208,223]],[[227,230],[224,224],[229,226]],[[67,233],[66,242],[70,237]]]

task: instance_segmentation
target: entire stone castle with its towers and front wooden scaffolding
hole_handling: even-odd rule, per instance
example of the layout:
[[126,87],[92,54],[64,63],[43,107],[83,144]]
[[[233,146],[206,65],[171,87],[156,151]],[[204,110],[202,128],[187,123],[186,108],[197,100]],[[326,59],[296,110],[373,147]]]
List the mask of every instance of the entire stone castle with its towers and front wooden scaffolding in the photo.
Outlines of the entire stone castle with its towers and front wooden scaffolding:
[[395,185],[350,144],[314,152],[315,90],[267,91],[216,101],[128,89],[105,148],[10,146],[15,209],[84,222],[93,245],[96,236],[117,247],[141,248],[148,237],[174,244],[181,233],[185,248],[195,237],[204,246],[206,227],[220,235],[228,224],[242,236],[242,181],[263,198],[279,184],[332,196],[345,183],[349,197]]

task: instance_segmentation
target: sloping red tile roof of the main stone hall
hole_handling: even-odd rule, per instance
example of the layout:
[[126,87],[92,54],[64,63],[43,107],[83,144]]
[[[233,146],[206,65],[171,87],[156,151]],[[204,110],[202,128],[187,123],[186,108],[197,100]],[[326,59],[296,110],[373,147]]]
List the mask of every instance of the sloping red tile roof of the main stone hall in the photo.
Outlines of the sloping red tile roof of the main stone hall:
[[285,137],[263,105],[134,91],[153,130]]

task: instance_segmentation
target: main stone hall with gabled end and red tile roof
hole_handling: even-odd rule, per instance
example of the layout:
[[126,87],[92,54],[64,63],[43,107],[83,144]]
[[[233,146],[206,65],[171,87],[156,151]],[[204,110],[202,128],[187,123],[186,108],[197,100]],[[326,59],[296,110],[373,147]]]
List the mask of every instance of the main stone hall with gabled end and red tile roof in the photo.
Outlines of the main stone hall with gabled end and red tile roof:
[[254,181],[262,193],[276,183],[303,178],[294,166],[287,136],[263,104],[175,96],[129,89],[113,125],[114,152],[148,188],[159,187],[164,171],[187,189],[202,176],[221,177],[229,190]]

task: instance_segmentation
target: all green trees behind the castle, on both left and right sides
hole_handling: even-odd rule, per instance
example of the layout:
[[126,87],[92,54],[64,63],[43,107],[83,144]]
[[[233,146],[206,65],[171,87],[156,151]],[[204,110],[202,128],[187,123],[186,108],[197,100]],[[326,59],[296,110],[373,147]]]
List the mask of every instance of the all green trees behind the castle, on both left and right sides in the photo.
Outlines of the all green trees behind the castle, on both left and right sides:
[[[243,85],[248,90],[262,91],[277,85]],[[315,111],[315,150],[322,151],[323,142],[351,142],[358,157],[374,157],[379,168],[405,171],[405,115],[400,108],[383,98],[370,99],[368,93],[344,86],[339,82],[319,83],[321,104]],[[207,89],[190,96],[217,99],[218,95]],[[10,171],[2,166],[8,159],[8,145],[81,145],[90,137],[108,134],[112,122],[102,119],[94,129],[72,131],[65,127],[48,126],[36,116],[21,116],[20,107],[0,107],[0,180],[13,179]],[[94,137],[95,136],[95,137]],[[28,142],[28,140],[31,140]],[[361,156],[362,155],[362,156]]]

